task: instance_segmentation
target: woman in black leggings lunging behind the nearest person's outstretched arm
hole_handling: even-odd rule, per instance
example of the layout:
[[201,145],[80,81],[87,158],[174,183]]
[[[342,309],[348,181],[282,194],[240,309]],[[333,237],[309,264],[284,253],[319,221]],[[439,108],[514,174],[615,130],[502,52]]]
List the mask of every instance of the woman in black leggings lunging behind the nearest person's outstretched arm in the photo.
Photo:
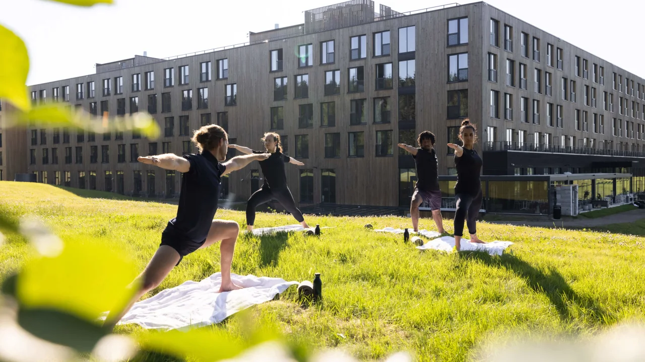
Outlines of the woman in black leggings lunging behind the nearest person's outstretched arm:
[[236,144],[230,144],[228,147],[235,148],[242,153],[270,153],[271,156],[266,160],[260,162],[260,167],[264,175],[264,184],[259,190],[255,191],[251,198],[246,202],[246,229],[253,230],[253,223],[255,223],[255,208],[259,205],[266,204],[271,200],[276,200],[288,213],[291,213],[295,220],[303,225],[305,229],[309,226],[304,222],[303,213],[295,207],[295,201],[291,191],[286,184],[286,175],[284,174],[284,164],[290,163],[297,166],[304,166],[303,162],[295,160],[293,157],[288,157],[282,153],[282,144],[280,136],[277,133],[268,132],[264,133],[264,147],[266,151],[253,151],[253,149]]

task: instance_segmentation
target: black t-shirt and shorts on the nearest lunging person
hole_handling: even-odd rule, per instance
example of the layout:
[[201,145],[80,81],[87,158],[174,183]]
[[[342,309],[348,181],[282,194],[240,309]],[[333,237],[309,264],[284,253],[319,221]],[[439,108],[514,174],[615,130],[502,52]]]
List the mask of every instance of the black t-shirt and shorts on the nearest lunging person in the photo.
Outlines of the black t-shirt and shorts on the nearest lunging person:
[[201,243],[206,240],[217,211],[219,187],[226,166],[209,151],[183,157],[190,162],[190,170],[181,175],[177,216],[168,222],[166,232]]

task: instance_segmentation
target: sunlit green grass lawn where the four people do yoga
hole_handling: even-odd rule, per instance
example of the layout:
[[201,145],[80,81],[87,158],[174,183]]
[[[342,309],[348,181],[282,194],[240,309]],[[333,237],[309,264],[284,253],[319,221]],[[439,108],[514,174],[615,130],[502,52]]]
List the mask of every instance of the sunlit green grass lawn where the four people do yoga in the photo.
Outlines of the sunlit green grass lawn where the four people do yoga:
[[[15,216],[35,214],[63,239],[103,238],[132,255],[139,267],[157,249],[176,205],[106,200],[43,184],[0,182],[0,207]],[[244,225],[244,213],[216,218]],[[645,239],[593,231],[479,224],[482,240],[514,242],[501,257],[465,252],[419,252],[402,238],[364,229],[410,227],[398,217],[306,216],[320,238],[248,237],[237,242],[233,272],[285,280],[323,279],[322,303],[302,309],[295,288],[250,310],[256,321],[275,323],[295,341],[315,348],[342,347],[372,360],[409,350],[419,361],[476,358],[490,341],[530,336],[586,338],[621,321],[645,321]],[[294,224],[285,214],[259,214],[256,227]],[[444,220],[448,231],[452,222]],[[432,220],[421,227],[434,229]],[[619,231],[619,230],[617,230]],[[0,252],[0,278],[18,268],[28,247],[10,236]],[[197,251],[148,296],[219,271],[219,247]],[[233,316],[217,329],[239,333]],[[139,327],[119,327],[137,333]],[[340,336],[342,334],[342,336]]]

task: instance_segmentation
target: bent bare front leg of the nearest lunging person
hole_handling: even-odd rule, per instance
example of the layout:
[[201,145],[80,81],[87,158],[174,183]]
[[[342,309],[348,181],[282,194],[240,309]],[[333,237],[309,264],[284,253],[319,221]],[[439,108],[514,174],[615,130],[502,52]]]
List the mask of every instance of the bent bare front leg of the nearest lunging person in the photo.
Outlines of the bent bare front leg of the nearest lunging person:
[[235,252],[235,241],[239,234],[240,226],[237,222],[229,220],[213,220],[213,224],[208,231],[206,242],[199,249],[209,247],[213,243],[221,242],[219,244],[222,285],[219,287],[219,292],[228,292],[235,289],[242,289],[233,284],[231,280],[231,264],[233,263],[233,253]]

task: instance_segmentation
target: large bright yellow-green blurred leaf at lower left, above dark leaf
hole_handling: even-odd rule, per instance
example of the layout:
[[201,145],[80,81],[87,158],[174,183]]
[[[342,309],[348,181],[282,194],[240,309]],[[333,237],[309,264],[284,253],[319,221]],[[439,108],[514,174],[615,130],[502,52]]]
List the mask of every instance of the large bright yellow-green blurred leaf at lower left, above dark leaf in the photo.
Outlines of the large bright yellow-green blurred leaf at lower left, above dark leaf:
[[102,312],[121,310],[132,298],[126,288],[134,264],[107,244],[66,242],[61,254],[34,256],[18,275],[16,294],[28,308],[51,308],[93,321]]

